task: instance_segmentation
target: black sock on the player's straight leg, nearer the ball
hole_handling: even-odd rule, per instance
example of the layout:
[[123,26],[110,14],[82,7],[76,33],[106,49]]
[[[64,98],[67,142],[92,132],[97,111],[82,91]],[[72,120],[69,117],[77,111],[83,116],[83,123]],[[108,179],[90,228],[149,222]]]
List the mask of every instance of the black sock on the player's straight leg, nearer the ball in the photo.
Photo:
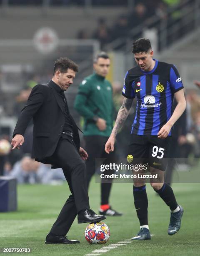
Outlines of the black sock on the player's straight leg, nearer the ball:
[[140,220],[140,226],[148,225],[148,198],[146,185],[142,187],[133,186],[133,197],[138,219]]

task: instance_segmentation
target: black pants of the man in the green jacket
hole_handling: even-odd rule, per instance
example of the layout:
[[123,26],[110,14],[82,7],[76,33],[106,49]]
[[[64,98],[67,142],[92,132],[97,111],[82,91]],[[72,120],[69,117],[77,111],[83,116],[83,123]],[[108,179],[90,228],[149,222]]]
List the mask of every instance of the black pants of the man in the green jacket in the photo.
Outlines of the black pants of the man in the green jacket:
[[[107,154],[104,150],[105,143],[108,137],[105,136],[85,136],[85,149],[88,154],[86,161],[87,170],[87,186],[89,187],[90,180],[95,174],[95,159],[105,159],[102,164],[110,164],[115,161],[115,154],[111,152]],[[104,172],[105,174],[111,174],[110,170]],[[110,190],[112,187],[112,179],[109,179],[108,183],[101,183],[101,205],[106,205],[109,202]]]

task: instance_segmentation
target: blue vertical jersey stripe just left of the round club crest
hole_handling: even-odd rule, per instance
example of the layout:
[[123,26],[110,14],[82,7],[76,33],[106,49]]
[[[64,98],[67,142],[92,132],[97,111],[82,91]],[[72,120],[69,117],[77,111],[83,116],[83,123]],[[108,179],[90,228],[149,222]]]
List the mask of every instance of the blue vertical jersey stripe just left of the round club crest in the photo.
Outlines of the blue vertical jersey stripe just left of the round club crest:
[[[158,75],[152,75],[152,83],[153,83],[153,90],[155,90],[156,86],[158,85]],[[156,98],[159,97],[160,101],[160,94],[156,96]],[[157,101],[157,99],[156,99]],[[157,135],[160,129],[160,106],[158,105],[157,108],[154,109],[153,112],[153,127],[151,134],[152,135]]]

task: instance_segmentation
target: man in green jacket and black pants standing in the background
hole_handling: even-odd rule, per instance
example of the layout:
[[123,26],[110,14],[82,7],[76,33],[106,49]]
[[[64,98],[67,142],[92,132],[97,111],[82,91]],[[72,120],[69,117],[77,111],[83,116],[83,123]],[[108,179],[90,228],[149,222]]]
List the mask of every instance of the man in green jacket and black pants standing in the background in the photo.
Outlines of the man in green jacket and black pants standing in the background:
[[[113,124],[112,86],[105,79],[110,58],[105,52],[97,54],[93,64],[95,72],[80,84],[74,108],[84,118],[84,139],[89,158],[86,161],[87,185],[95,173],[95,159],[106,159],[104,164],[114,163],[114,154],[106,154],[105,143]],[[108,171],[109,172],[109,171]],[[104,172],[105,173],[105,172]],[[106,174],[106,173],[105,173]],[[112,180],[101,183],[101,206],[99,212],[110,216],[122,215],[109,205]]]

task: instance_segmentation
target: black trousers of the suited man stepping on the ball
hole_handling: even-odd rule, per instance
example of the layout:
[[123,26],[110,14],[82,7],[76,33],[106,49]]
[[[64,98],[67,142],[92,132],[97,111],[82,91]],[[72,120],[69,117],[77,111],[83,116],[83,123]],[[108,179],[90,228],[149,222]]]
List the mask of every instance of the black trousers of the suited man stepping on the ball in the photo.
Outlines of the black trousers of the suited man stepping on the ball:
[[90,208],[87,194],[86,166],[75,147],[74,141],[64,134],[60,138],[54,154],[46,160],[50,164],[59,164],[62,167],[72,193],[50,230],[58,236],[66,235],[77,213],[80,210]]

